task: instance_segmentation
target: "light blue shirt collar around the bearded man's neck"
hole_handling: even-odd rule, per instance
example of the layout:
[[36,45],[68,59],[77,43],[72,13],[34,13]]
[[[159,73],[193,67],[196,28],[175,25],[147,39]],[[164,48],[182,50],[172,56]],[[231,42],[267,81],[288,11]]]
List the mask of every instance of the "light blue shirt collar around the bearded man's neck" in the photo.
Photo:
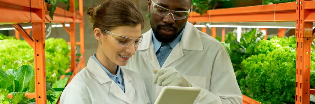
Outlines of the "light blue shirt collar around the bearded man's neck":
[[[173,49],[177,43],[180,42],[181,37],[183,36],[183,32],[185,30],[185,26],[183,28],[183,30],[180,32],[180,34],[178,35],[178,37],[176,37],[176,39],[173,42],[169,43],[169,46]],[[152,31],[152,42],[154,45],[154,52],[156,53],[158,49],[160,49],[162,42],[159,42],[156,38],[155,35]]]

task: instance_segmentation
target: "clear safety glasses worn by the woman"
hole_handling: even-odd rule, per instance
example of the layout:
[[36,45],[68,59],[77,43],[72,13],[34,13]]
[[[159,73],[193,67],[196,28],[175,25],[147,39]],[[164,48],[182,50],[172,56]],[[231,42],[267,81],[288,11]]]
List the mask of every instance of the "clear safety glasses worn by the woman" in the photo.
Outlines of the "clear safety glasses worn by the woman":
[[129,38],[129,37],[124,37],[121,35],[114,34],[110,31],[103,30],[107,34],[112,36],[113,42],[115,42],[117,45],[121,47],[129,47],[132,43],[135,43],[135,47],[138,47],[140,42],[142,41],[142,35],[140,38]]

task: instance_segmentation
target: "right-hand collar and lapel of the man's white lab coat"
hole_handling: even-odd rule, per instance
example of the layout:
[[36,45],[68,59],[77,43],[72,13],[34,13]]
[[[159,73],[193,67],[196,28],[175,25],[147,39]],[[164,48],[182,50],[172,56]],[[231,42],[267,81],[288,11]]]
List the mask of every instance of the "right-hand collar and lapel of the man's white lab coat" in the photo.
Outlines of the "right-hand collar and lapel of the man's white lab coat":
[[199,31],[189,22],[186,23],[185,30],[183,32],[180,42],[169,54],[162,68],[168,67],[170,64],[183,57],[183,49],[203,51],[203,45],[201,43]]

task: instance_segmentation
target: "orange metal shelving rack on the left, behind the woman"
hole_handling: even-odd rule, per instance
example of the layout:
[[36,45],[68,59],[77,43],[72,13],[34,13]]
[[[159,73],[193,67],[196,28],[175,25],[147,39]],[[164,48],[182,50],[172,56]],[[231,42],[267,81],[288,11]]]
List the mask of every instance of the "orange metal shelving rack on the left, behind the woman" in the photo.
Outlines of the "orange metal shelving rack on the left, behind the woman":
[[[35,70],[35,92],[26,93],[27,98],[35,98],[36,104],[46,104],[46,74],[45,74],[45,23],[70,23],[71,44],[71,69],[72,75],[69,81],[84,67],[84,35],[83,35],[83,0],[79,0],[79,15],[75,12],[75,0],[70,0],[70,11],[57,7],[54,12],[54,19],[49,17],[47,3],[44,0],[0,0],[0,23],[12,24],[17,32],[26,40],[34,50],[34,70]],[[32,24],[32,37],[30,30],[25,30],[20,23]],[[80,42],[75,42],[75,24],[80,23]],[[15,35],[19,38],[19,35]],[[80,45],[81,56],[76,63],[75,44]],[[12,98],[12,95],[8,95]]]

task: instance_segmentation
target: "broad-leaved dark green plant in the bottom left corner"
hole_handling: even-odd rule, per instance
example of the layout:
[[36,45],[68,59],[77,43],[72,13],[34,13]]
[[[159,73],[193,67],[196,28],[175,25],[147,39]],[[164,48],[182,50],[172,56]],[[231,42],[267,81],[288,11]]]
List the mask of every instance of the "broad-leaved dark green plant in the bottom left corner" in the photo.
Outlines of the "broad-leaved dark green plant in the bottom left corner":
[[[30,89],[35,89],[35,87],[30,87],[31,78],[33,77],[33,69],[29,65],[22,65],[19,69],[11,69],[4,72],[3,69],[0,69],[0,91],[4,95],[3,101],[1,102],[10,102],[12,104],[25,103],[35,101],[33,99],[26,99],[24,96],[25,92]],[[12,100],[5,98],[8,93],[11,92],[13,95]],[[0,94],[0,95],[2,95]],[[3,96],[2,95],[2,96]]]

